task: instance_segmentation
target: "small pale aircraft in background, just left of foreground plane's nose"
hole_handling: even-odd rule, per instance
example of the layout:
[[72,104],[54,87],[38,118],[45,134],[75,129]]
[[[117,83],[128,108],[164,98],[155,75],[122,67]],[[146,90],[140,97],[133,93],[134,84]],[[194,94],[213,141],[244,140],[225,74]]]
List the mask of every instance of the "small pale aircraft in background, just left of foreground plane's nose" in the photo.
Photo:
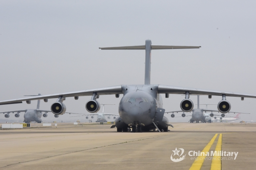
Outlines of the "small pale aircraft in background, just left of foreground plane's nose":
[[[108,122],[106,119],[106,116],[108,117],[108,119],[110,119],[110,116],[114,116],[113,118],[116,119],[116,114],[109,114],[109,113],[104,113],[104,106],[105,105],[115,105],[115,104],[100,104],[103,105],[103,109],[102,109],[102,113],[89,113],[89,114],[81,114],[81,113],[72,113],[72,114],[79,114],[79,115],[75,115],[75,116],[70,116],[70,117],[76,117],[76,116],[86,116],[85,118],[88,119],[88,116],[91,116],[91,118],[94,118],[94,115],[97,115],[97,121],[96,122]],[[68,112],[66,112],[68,113]]]

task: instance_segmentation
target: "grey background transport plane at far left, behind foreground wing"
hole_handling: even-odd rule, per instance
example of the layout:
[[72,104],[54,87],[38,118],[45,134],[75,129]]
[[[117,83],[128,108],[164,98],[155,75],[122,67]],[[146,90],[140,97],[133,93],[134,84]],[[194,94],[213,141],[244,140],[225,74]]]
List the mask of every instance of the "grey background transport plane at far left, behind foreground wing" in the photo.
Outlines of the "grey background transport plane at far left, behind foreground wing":
[[[41,96],[41,94],[33,95],[33,96]],[[0,113],[4,113],[4,117],[9,118],[10,113],[15,113],[16,112],[16,114],[14,116],[15,117],[20,117],[20,112],[25,112],[25,114],[24,114],[24,122],[25,123],[30,123],[30,121],[36,121],[37,123],[42,123],[42,119],[41,119],[42,115],[43,115],[43,117],[47,117],[47,113],[51,112],[51,111],[41,110],[41,109],[39,109],[39,107],[40,107],[40,100],[37,101],[36,109],[5,111],[5,112],[0,112]],[[44,114],[42,114],[42,112],[44,112]]]

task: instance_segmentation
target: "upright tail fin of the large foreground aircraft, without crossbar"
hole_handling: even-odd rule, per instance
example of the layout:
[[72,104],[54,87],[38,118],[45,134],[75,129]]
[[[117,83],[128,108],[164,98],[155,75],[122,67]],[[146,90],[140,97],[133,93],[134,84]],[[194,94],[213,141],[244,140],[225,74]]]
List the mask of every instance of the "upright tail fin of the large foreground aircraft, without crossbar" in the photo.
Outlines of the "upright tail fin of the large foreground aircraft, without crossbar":
[[146,40],[146,57],[145,57],[145,83],[150,84],[150,70],[151,70],[151,40]]

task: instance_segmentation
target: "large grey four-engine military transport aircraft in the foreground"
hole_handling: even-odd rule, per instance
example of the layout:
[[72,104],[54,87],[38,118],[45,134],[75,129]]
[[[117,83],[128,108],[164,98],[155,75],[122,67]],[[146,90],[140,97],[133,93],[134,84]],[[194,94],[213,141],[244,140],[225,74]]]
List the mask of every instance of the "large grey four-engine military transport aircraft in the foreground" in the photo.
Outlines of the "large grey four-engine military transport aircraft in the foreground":
[[[218,110],[221,113],[228,113],[231,109],[230,103],[226,97],[256,98],[256,95],[240,94],[233,92],[200,90],[197,88],[174,87],[160,84],[150,84],[150,67],[151,67],[151,50],[157,49],[199,49],[200,46],[170,46],[170,45],[152,45],[151,40],[146,40],[145,45],[125,46],[125,47],[104,47],[102,50],[145,50],[145,78],[144,84],[137,85],[119,85],[104,88],[96,88],[91,90],[82,90],[77,92],[67,92],[50,94],[44,96],[33,96],[29,98],[20,98],[14,100],[1,101],[3,104],[18,104],[26,101],[30,104],[31,100],[57,98],[57,101],[51,105],[52,113],[62,115],[66,111],[63,100],[66,97],[74,97],[78,100],[79,96],[92,96],[91,100],[86,103],[86,110],[90,113],[96,113],[100,110],[100,103],[97,99],[100,95],[112,95],[119,98],[120,94],[124,96],[119,103],[119,115],[115,122],[117,131],[128,131],[128,127],[132,127],[132,132],[149,131],[150,129],[160,129],[158,131],[168,131],[168,119],[164,116],[163,102],[160,94],[165,94],[168,98],[169,94],[185,94],[185,99],[181,101],[180,107],[183,111],[189,112],[193,110],[194,104],[189,99],[190,94],[208,95],[208,98],[221,96],[222,100],[218,103]],[[185,63],[189,65],[189,63]]]

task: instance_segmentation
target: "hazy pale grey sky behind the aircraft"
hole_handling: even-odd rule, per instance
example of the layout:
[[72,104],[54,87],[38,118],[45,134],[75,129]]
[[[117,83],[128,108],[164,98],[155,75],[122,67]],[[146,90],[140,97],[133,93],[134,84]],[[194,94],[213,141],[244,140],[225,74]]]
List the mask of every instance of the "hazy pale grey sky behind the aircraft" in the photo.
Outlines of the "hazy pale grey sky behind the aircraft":
[[[256,1],[246,0],[1,0],[0,100],[144,84],[145,51],[98,47],[144,45],[146,39],[154,45],[202,46],[153,50],[151,84],[256,94],[255,9]],[[88,113],[85,104],[90,98],[67,98],[64,104],[69,112]],[[180,110],[182,99],[181,95],[164,98],[164,109]],[[196,104],[196,96],[190,99]],[[218,104],[221,97],[200,99]],[[256,99],[227,100],[231,111],[252,113],[242,119],[256,120]],[[42,101],[40,108],[50,110],[55,101]],[[105,111],[118,114],[120,98],[100,96],[98,101],[116,104]],[[2,105],[0,111],[36,108],[36,103]],[[170,122],[190,119],[168,117]],[[14,114],[10,118],[15,119]],[[52,113],[42,119],[56,120]]]

